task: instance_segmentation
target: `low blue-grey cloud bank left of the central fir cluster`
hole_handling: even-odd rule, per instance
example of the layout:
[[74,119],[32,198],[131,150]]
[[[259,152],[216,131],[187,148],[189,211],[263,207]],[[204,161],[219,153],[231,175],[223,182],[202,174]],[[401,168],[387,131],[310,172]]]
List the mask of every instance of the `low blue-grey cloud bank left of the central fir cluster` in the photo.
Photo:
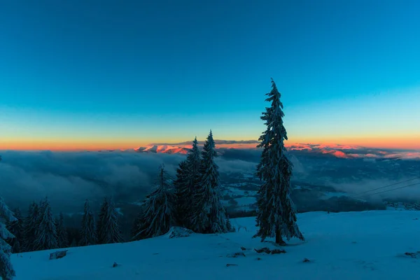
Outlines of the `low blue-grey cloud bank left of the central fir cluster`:
[[130,197],[150,190],[165,164],[174,176],[183,155],[139,153],[2,153],[0,192],[13,205],[26,205],[48,196],[62,209],[80,207],[83,200],[104,195]]

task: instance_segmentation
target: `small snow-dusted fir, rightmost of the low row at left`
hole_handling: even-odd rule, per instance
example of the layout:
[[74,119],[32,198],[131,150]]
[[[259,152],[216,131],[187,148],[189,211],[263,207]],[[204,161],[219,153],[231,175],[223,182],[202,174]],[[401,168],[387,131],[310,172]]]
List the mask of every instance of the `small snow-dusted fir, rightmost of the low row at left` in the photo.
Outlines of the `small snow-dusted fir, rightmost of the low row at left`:
[[98,244],[120,243],[123,240],[118,216],[112,197],[105,198],[97,223]]

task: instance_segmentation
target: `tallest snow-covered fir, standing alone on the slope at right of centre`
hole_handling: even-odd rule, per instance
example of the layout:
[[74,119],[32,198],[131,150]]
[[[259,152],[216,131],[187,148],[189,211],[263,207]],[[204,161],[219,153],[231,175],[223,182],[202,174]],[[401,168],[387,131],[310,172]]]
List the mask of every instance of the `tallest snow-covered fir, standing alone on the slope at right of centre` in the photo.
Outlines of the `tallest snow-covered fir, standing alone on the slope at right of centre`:
[[286,156],[284,140],[287,140],[286,129],[283,126],[283,104],[280,92],[272,80],[272,90],[267,93],[265,101],[271,106],[262,113],[267,130],[262,133],[260,144],[262,155],[257,167],[257,174],[263,181],[258,190],[257,226],[255,237],[264,241],[267,237],[276,237],[276,244],[284,244],[283,238],[297,237],[304,239],[297,227],[295,207],[290,198],[290,178],[293,164]]

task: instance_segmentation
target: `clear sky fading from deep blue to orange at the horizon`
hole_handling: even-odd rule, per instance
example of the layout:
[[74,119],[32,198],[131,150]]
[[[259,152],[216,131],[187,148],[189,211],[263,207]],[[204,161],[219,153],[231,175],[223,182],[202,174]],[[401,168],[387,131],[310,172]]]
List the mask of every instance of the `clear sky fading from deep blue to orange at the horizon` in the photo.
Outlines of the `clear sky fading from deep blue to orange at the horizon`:
[[0,150],[258,139],[420,148],[420,2],[2,1]]

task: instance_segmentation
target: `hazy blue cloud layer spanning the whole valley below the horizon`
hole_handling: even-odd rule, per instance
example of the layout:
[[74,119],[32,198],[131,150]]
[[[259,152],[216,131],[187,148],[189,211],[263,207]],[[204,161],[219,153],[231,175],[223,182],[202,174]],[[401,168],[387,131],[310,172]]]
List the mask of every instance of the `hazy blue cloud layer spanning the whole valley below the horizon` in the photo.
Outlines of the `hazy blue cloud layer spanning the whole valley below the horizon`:
[[[316,144],[295,144],[288,150],[295,181],[333,186],[348,193],[420,177],[420,155],[416,151]],[[218,152],[221,174],[253,174],[260,160],[260,149],[255,148],[220,148]],[[62,211],[83,209],[83,200],[101,202],[104,195],[114,195],[117,200],[138,200],[150,190],[159,165],[165,164],[169,174],[175,176],[176,167],[186,157],[118,151],[3,151],[0,154],[3,158],[0,195],[10,206],[26,209],[31,201],[48,195],[52,206]],[[410,189],[398,193],[409,197]]]

